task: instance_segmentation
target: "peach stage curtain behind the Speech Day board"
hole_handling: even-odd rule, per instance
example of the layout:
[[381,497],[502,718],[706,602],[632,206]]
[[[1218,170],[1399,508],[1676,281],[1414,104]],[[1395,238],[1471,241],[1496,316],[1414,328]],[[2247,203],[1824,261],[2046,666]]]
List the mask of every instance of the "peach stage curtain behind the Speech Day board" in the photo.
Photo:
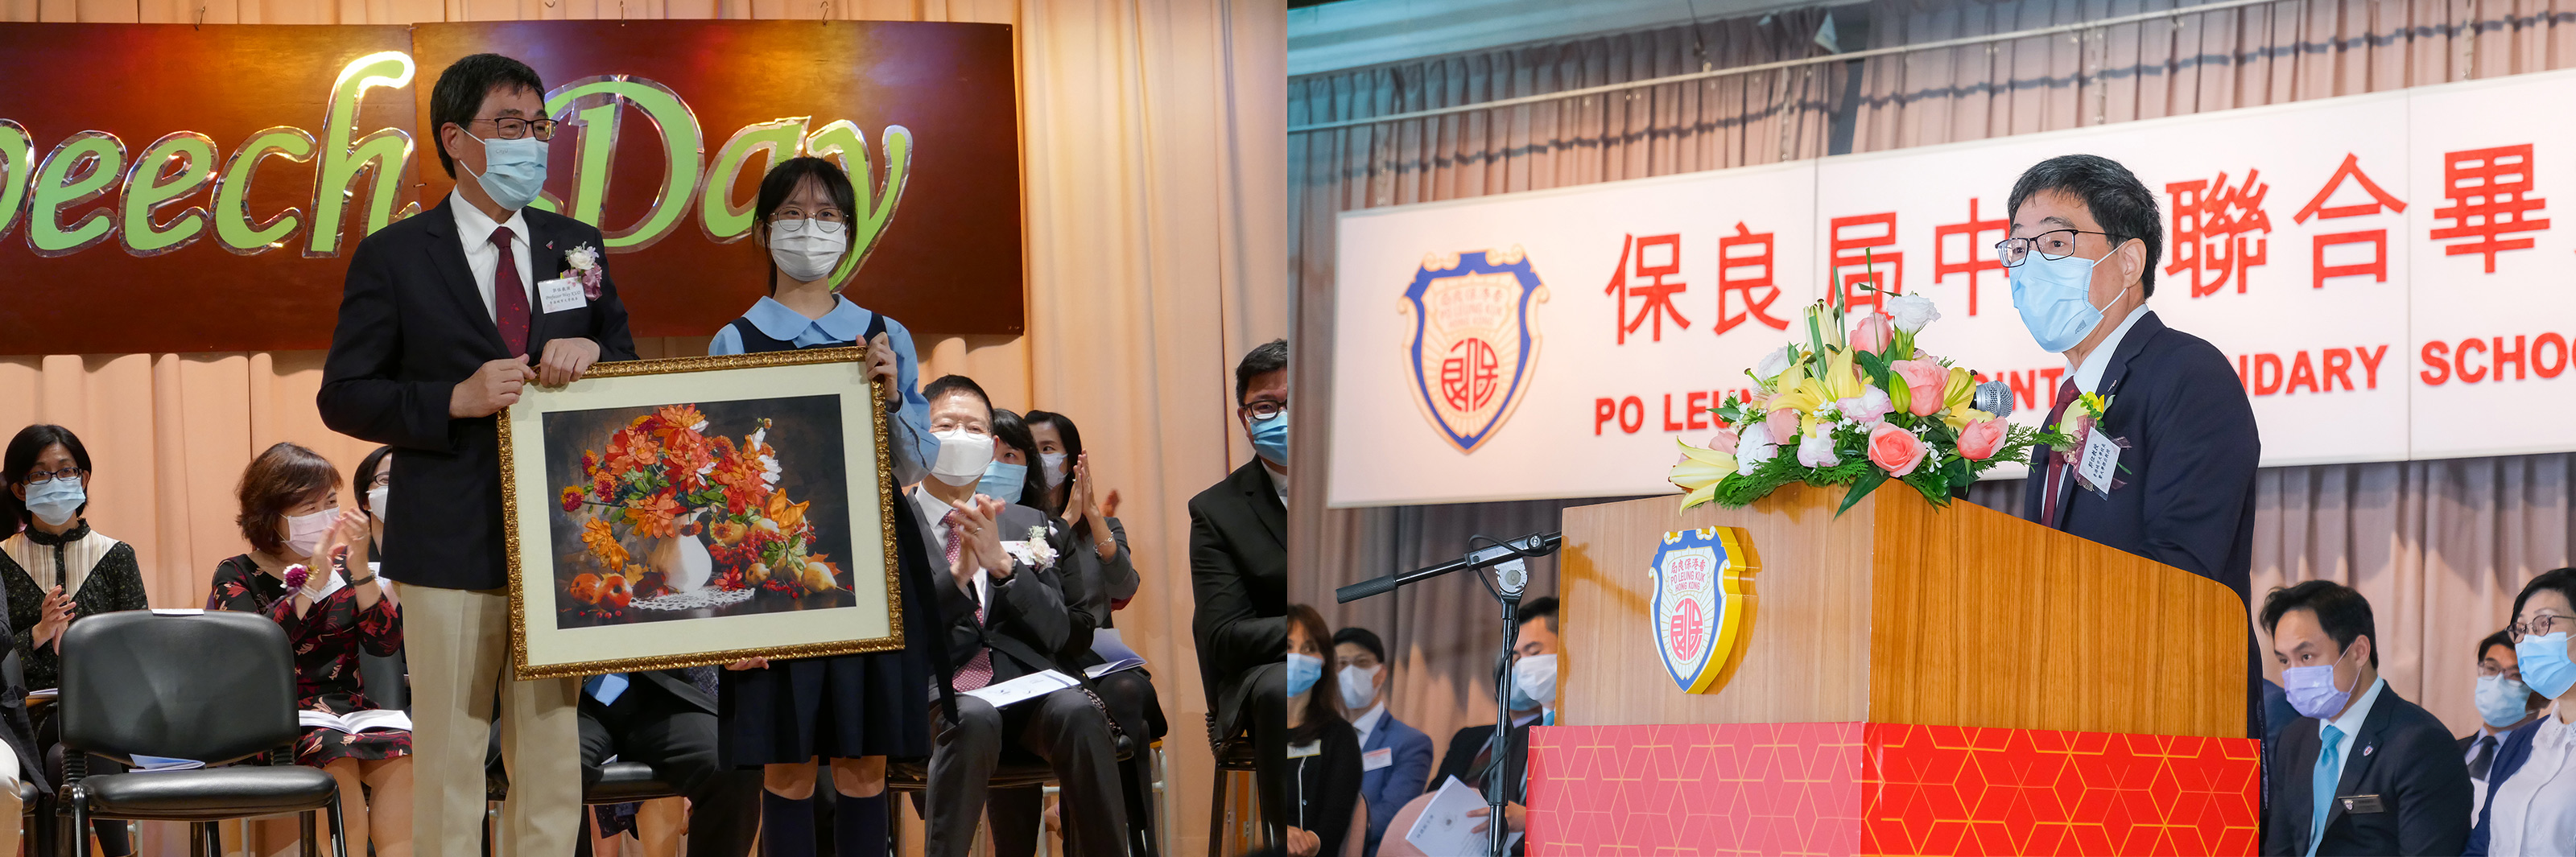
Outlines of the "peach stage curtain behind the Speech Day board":
[[[997,407],[1082,422],[1118,489],[1144,587],[1118,628],[1172,723],[1177,852],[1206,849],[1206,700],[1190,643],[1190,494],[1249,450],[1231,365],[1288,335],[1285,8],[1260,0],[0,0],[0,21],[422,23],[536,18],[1012,23],[1020,54],[1028,335],[920,335],[922,378],[966,373]],[[422,69],[435,75],[435,69]],[[428,77],[425,77],[428,80]],[[425,82],[422,80],[422,82]],[[701,319],[708,332],[729,319]],[[255,324],[247,319],[242,324]],[[706,337],[641,340],[647,358]],[[0,358],[0,425],[62,422],[98,476],[93,522],[134,543],[157,607],[206,600],[242,466],[278,440],[355,468],[368,443],[314,412],[322,353]],[[394,512],[399,515],[399,510]],[[178,854],[185,834],[147,834]]]

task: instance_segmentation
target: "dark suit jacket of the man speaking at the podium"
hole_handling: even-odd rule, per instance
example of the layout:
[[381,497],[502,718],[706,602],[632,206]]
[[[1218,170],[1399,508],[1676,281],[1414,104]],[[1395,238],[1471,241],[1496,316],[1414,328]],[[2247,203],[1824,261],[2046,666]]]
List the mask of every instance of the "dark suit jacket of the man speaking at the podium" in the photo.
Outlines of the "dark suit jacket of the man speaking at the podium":
[[[2251,597],[2262,438],[2228,355],[2146,311],[2110,355],[2094,391],[2115,396],[2099,430],[2128,440],[2120,450],[2128,471],[2115,476],[2125,484],[2107,499],[2069,484],[2058,497],[2058,528],[2215,579],[2239,600]],[[2045,456],[2045,445],[2030,453],[2027,520],[2040,520],[2040,497],[2048,494]]]

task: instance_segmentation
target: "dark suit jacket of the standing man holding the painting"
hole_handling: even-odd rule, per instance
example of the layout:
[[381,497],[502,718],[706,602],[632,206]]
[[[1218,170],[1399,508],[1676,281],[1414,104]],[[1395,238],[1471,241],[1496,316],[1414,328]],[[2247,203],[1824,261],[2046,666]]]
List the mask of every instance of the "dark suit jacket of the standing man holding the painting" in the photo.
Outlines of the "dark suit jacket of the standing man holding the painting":
[[[590,224],[538,208],[526,214],[538,283],[562,275],[572,247],[600,247],[600,229]],[[608,275],[587,306],[544,311],[531,304],[528,311],[531,355],[544,355],[551,340],[582,337],[600,345],[600,363],[636,358],[626,304]],[[500,530],[500,417],[448,419],[456,381],[502,358],[510,353],[466,268],[448,203],[358,242],[314,404],[335,432],[399,450],[389,502],[404,512],[384,522],[384,576],[440,589],[510,584]]]

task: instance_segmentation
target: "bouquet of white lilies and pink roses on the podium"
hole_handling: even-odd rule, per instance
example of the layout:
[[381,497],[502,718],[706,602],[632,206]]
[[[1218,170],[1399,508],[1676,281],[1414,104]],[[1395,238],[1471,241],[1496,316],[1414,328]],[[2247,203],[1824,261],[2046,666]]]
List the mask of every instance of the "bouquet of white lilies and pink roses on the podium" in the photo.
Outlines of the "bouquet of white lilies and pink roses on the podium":
[[1850,486],[1842,499],[1850,510],[1888,479],[1940,507],[1986,468],[2022,458],[2035,443],[2066,440],[1976,409],[1978,376],[1914,347],[1940,319],[1929,299],[1883,301],[1886,314],[1857,322],[1842,301],[1816,301],[1806,309],[1806,340],[1747,371],[1757,389],[1752,399],[1718,401],[1713,443],[1682,443],[1672,484],[1687,492],[1685,510],[1744,507],[1793,481]]

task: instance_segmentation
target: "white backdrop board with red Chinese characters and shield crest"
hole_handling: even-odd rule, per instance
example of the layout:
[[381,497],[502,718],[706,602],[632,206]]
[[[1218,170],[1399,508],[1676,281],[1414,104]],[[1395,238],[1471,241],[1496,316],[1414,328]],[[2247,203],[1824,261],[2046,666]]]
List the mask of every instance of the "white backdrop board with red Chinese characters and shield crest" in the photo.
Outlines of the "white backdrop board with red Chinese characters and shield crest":
[[2576,72],[1347,211],[1329,502],[1672,492],[1672,440],[1832,283],[1929,296],[1919,347],[2038,422],[2069,368],[1991,244],[2071,152],[2159,196],[2148,309],[2233,358],[2264,466],[2576,450],[2563,103]]

